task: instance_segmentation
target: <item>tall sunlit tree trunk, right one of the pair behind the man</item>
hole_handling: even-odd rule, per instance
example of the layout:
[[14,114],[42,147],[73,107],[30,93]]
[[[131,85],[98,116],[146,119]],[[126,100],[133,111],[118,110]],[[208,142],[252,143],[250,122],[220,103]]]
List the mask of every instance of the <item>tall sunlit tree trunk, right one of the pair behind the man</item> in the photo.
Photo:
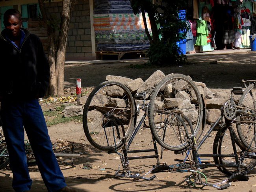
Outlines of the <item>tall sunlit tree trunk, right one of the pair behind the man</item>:
[[59,30],[58,47],[56,53],[56,77],[57,77],[57,94],[63,95],[64,89],[64,65],[67,46],[67,37],[69,32],[70,12],[75,0],[63,0],[61,25]]

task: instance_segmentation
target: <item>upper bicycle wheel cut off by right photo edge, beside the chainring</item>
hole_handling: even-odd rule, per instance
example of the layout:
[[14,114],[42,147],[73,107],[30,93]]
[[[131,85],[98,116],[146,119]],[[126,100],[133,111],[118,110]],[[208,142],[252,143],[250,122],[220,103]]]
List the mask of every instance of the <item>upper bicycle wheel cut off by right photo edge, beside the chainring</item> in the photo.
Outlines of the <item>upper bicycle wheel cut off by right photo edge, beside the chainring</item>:
[[256,152],[256,138],[254,134],[256,133],[256,116],[250,115],[251,113],[256,113],[256,85],[255,83],[250,84],[244,91],[244,94],[239,99],[238,107],[241,107],[247,114],[236,115],[236,128],[238,136],[241,142],[246,148],[249,147],[250,151]]

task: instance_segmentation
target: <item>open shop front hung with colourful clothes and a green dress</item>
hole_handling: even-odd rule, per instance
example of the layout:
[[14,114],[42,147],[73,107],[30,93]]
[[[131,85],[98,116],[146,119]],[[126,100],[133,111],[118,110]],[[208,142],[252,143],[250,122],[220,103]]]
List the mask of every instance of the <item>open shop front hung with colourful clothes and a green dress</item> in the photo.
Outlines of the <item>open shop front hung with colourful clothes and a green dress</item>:
[[188,0],[186,11],[194,43],[187,53],[250,48],[256,0]]

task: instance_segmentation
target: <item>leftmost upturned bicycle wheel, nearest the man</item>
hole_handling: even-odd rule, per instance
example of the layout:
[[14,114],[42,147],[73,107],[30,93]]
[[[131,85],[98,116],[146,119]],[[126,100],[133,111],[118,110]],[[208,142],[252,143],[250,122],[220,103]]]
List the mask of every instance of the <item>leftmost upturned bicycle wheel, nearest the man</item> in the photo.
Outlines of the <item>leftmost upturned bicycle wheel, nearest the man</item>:
[[88,96],[83,109],[83,129],[98,150],[119,149],[134,129],[135,104],[122,83],[105,81]]

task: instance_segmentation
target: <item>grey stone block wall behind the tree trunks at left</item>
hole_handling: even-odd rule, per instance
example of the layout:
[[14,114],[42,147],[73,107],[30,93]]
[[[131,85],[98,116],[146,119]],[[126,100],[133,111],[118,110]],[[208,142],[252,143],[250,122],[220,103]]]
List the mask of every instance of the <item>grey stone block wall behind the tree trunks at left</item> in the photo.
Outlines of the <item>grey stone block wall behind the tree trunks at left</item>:
[[[46,3],[48,14],[54,15],[60,22],[62,2]],[[47,54],[48,37],[46,27],[40,21],[28,20],[28,30],[38,35]],[[56,31],[58,35],[58,31]],[[67,39],[66,59],[89,59],[92,57],[91,24],[89,0],[77,0],[71,12],[69,34]]]

